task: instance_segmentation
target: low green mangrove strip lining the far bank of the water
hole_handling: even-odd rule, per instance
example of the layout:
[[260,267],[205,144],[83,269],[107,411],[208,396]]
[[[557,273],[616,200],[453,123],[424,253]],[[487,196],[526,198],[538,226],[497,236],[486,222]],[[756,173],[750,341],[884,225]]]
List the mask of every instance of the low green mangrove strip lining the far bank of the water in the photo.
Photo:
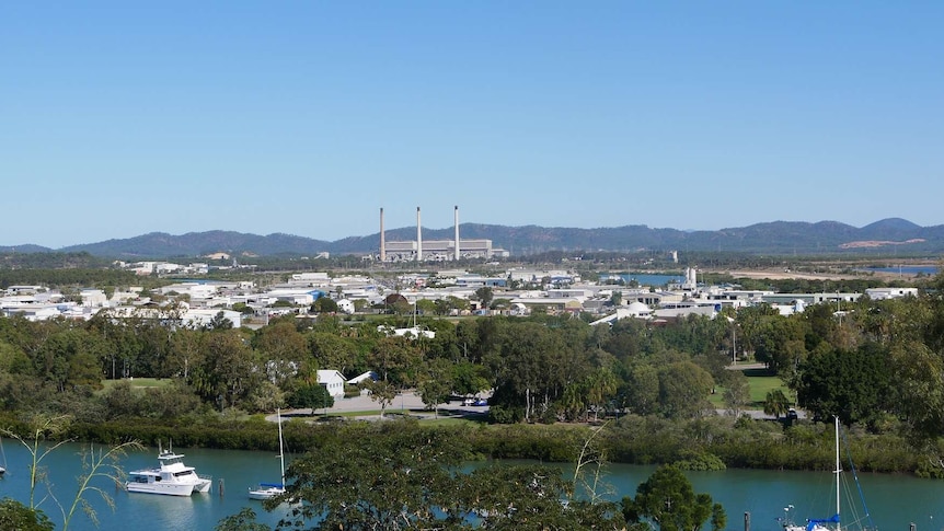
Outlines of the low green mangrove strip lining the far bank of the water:
[[[574,462],[584,442],[591,437],[607,462],[671,464],[681,470],[736,467],[829,471],[834,458],[828,426],[805,420],[784,426],[783,420],[758,420],[747,416],[735,419],[716,415],[668,420],[629,415],[588,426],[437,425],[408,417],[324,424],[316,418],[296,418],[285,423],[286,447],[291,453],[331,451],[332,445],[396,429],[419,435],[436,434],[437,438],[447,440],[449,445],[463,448],[470,461],[522,459]],[[9,414],[0,417],[0,423],[13,432],[28,429]],[[172,439],[179,448],[277,451],[272,442],[275,430],[273,423],[257,417],[225,419],[203,416],[174,422],[126,419],[97,424],[74,423],[58,438],[104,445],[134,440],[145,446],[157,446],[159,441]],[[599,432],[594,436],[597,430]],[[862,472],[944,477],[940,464],[926,450],[916,450],[901,437],[871,435],[854,428],[849,443],[856,455],[856,469]]]

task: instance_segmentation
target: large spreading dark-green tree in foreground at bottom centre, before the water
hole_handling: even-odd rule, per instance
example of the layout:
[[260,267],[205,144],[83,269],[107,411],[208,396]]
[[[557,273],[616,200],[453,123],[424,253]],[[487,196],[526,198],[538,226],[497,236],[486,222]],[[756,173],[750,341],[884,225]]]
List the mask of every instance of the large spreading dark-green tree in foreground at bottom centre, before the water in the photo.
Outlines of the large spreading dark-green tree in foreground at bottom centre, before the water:
[[462,434],[422,429],[415,422],[380,423],[342,427],[326,443],[334,451],[289,466],[288,492],[304,503],[279,529],[623,528],[613,504],[575,499],[573,483],[559,470],[536,464],[462,471],[469,451]]

